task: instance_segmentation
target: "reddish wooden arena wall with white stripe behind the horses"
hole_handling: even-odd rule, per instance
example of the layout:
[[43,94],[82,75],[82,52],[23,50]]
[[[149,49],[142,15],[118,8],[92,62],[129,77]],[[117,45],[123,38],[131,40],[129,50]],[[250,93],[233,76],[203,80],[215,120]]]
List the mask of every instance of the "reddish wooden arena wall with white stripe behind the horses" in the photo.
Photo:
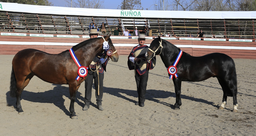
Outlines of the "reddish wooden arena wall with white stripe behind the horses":
[[[59,38],[34,37],[34,36],[11,36],[0,35],[0,54],[16,54],[26,48],[34,48],[50,54],[58,54],[70,49],[72,46],[87,40],[88,38]],[[111,38],[111,37],[110,37]],[[153,37],[154,39],[155,37]],[[149,46],[153,39],[147,39]],[[167,40],[182,51],[192,56],[202,56],[209,53],[219,52],[232,58],[256,59],[256,42],[230,42],[228,41],[205,41],[203,40]],[[112,39],[119,55],[128,55],[131,49],[138,45],[137,39]]]

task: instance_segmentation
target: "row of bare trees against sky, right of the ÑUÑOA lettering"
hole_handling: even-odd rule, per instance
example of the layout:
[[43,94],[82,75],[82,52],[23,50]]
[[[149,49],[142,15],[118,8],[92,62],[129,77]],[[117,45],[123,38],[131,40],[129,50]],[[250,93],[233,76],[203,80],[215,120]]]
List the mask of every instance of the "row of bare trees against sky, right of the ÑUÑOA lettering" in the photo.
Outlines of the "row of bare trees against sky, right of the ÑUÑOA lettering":
[[256,0],[155,0],[154,4],[156,10],[256,11]]

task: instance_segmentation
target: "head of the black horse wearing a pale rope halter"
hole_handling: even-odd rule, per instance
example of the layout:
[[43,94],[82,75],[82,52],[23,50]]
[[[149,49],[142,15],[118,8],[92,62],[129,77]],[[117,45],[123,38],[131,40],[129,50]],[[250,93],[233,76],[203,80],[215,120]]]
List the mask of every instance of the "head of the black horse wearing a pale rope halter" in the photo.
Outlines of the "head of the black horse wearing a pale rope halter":
[[[161,48],[159,48],[161,47]],[[162,52],[162,39],[160,36],[158,38],[155,38],[148,47],[147,53],[145,54],[145,57],[147,60],[151,60],[155,55],[159,55]]]

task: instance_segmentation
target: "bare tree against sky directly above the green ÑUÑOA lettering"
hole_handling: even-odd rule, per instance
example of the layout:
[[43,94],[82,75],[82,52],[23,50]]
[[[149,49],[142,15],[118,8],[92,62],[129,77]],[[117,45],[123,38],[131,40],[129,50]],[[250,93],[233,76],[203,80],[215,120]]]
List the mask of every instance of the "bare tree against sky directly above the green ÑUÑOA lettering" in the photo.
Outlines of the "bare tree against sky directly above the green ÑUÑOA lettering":
[[118,5],[117,9],[143,10],[140,0],[123,0],[121,5]]

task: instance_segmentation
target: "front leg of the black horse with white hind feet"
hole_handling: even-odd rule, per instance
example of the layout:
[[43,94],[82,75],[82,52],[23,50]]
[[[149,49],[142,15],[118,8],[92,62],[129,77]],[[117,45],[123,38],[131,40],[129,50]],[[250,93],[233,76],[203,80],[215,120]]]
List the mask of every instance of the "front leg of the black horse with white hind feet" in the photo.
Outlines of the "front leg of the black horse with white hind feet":
[[176,94],[176,102],[174,104],[175,108],[174,110],[180,110],[181,106],[181,81],[178,79],[173,80],[174,88],[175,88],[175,94]]

